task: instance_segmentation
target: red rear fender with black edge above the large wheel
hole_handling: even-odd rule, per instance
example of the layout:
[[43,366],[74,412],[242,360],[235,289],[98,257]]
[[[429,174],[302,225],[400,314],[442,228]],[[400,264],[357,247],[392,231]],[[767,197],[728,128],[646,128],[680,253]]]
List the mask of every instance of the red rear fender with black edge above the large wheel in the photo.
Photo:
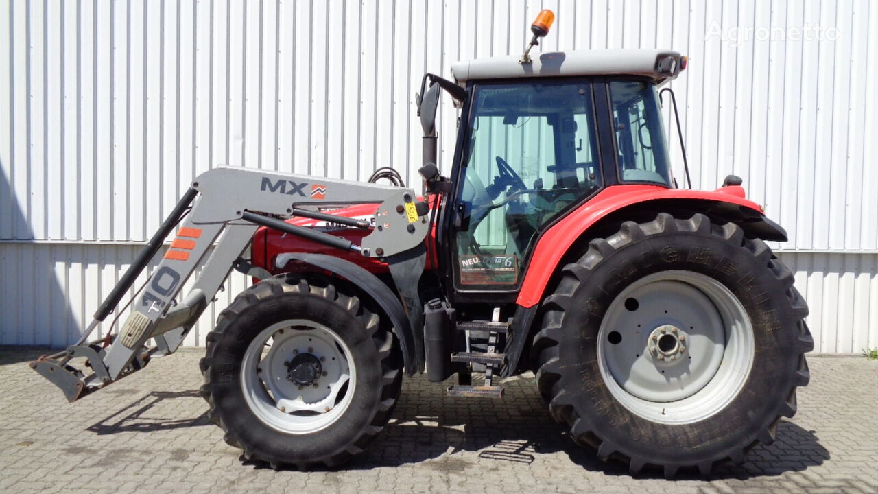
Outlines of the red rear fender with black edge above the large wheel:
[[667,189],[656,185],[609,186],[551,225],[537,239],[515,303],[523,308],[539,303],[558,264],[580,239],[589,237],[589,232],[596,232],[601,224],[636,221],[644,212],[703,213],[735,222],[749,236],[786,241],[787,232],[767,219],[762,208],[746,200],[744,195],[744,189],[738,185],[716,191]]

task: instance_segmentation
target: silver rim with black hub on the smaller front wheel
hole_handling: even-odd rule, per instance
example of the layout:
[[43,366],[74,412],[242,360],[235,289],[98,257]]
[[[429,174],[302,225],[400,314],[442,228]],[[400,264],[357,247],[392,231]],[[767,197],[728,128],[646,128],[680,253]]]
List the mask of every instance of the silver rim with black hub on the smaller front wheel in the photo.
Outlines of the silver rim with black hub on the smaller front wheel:
[[334,424],[348,409],[355,385],[348,345],[335,331],[304,319],[260,332],[241,363],[250,410],[280,432],[307,434]]

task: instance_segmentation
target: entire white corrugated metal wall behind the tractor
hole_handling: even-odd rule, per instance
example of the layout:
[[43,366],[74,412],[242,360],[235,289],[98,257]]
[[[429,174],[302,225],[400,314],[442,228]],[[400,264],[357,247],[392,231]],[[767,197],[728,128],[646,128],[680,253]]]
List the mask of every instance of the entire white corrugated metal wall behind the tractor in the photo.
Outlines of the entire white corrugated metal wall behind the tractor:
[[423,72],[518,54],[541,8],[558,14],[543,50],[692,57],[673,88],[694,185],[735,173],[788,229],[820,351],[878,346],[878,4],[866,0],[12,0],[0,6],[0,343],[73,338],[136,243],[217,163],[351,179],[392,165],[417,180]]

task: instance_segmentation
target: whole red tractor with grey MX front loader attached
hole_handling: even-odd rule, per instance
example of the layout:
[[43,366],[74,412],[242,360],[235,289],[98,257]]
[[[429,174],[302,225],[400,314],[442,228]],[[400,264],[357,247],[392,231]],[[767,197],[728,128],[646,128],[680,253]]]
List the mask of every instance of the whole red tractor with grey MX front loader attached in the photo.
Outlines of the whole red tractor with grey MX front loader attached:
[[[499,399],[496,380],[533,371],[572,439],[632,475],[744,461],[810,377],[807,305],[764,243],[786,233],[740,178],[673,177],[659,89],[686,57],[531,55],[553,19],[522,57],[424,76],[424,193],[392,169],[373,177],[390,185],[207,171],[76,345],[31,367],[71,402],[119,381],[175,352],[236,269],[255,283],[205,338],[201,395],[248,459],[342,464],[391,418],[404,372]],[[460,108],[448,176],[442,91]],[[90,341],[172,234],[126,323]]]

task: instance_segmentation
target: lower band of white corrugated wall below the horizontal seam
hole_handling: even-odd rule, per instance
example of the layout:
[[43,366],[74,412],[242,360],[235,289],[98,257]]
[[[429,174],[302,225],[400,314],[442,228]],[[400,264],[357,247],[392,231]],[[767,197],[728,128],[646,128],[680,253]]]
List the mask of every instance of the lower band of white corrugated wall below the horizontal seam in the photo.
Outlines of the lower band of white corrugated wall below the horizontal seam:
[[[138,251],[138,245],[112,243],[0,245],[3,279],[20,280],[0,287],[0,342],[60,346],[76,340]],[[781,259],[794,270],[795,285],[809,301],[808,323],[818,352],[856,353],[878,346],[878,254],[782,253]],[[185,344],[204,345],[219,311],[248,285],[248,278],[233,272]],[[126,316],[123,312],[119,323]]]

